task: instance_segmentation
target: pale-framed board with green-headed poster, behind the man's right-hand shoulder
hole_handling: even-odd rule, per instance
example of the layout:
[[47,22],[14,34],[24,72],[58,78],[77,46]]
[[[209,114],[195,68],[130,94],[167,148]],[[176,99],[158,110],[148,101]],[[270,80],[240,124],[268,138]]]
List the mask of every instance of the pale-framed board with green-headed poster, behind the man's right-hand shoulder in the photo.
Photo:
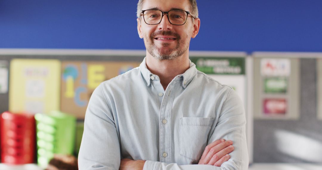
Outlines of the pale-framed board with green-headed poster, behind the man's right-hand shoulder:
[[253,116],[251,95],[252,58],[245,52],[190,52],[190,60],[199,71],[221,84],[232,87],[242,99],[246,113],[246,137],[249,160],[252,162]]

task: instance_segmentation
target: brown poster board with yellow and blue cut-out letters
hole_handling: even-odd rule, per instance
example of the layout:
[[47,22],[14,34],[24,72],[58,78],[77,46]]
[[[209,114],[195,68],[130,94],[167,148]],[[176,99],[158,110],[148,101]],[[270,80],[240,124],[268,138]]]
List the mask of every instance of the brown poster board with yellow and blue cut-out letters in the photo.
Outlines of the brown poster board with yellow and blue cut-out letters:
[[99,84],[139,66],[139,62],[63,61],[61,110],[84,119],[91,94]]

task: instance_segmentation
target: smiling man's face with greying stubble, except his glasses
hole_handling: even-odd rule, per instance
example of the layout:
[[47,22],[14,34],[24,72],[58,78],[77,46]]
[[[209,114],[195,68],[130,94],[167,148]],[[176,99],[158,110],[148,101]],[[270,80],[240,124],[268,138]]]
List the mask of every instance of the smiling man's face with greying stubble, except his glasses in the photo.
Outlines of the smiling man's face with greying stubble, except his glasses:
[[[172,9],[191,11],[188,0],[145,0],[142,10],[152,8],[164,12]],[[142,15],[137,19],[137,30],[147,52],[158,60],[173,60],[183,55],[189,48],[190,39],[197,35],[199,26],[200,20],[193,19],[190,14],[184,25],[170,24],[167,14],[156,25],[146,24]]]

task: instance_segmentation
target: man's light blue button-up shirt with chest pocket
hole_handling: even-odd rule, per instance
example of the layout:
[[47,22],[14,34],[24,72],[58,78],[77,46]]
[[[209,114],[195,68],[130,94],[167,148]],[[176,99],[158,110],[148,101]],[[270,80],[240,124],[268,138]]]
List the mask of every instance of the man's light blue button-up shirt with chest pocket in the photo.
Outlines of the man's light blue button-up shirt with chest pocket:
[[[147,160],[144,170],[248,168],[245,111],[236,92],[190,68],[163,89],[146,59],[93,92],[85,115],[79,169],[118,170],[120,159]],[[205,147],[232,140],[221,167],[197,164]]]

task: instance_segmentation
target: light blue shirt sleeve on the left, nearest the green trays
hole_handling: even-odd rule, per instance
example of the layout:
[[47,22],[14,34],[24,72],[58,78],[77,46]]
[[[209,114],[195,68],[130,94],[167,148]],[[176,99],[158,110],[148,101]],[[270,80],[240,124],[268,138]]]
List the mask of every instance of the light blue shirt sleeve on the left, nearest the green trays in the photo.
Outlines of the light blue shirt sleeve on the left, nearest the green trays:
[[99,85],[90,97],[85,114],[79,169],[118,170],[120,159],[114,118]]

